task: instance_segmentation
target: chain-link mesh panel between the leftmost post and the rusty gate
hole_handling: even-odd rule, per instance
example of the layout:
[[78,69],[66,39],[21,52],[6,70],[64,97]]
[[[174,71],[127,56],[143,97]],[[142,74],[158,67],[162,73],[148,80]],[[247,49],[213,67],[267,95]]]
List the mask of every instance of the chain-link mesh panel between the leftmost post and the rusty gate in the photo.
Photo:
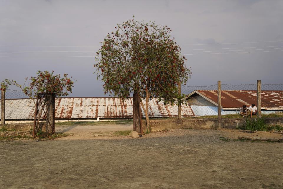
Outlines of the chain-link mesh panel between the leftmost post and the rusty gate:
[[23,91],[10,89],[6,90],[5,96],[6,123],[33,122],[35,99],[26,96]]

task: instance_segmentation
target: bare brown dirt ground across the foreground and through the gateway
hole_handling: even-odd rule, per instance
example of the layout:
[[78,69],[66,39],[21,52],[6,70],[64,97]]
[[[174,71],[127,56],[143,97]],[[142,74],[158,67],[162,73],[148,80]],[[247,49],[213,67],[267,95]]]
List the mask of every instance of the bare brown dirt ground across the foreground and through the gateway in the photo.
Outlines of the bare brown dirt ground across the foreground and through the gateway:
[[234,140],[280,134],[179,129],[132,139],[112,135],[131,124],[108,126],[58,126],[73,134],[1,141],[0,188],[283,188],[283,143]]

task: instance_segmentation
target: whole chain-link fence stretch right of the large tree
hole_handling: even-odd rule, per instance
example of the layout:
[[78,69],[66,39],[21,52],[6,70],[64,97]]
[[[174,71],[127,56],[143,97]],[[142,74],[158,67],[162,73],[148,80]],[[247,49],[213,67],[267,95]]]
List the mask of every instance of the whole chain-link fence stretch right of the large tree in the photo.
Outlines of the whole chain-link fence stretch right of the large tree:
[[[221,89],[221,115],[250,116],[257,113],[269,114],[269,116],[281,116],[283,111],[283,84],[220,84]],[[196,116],[218,115],[218,85],[210,86],[185,86],[182,85],[182,93],[186,94]],[[258,94],[259,93],[259,94]],[[257,109],[258,95],[261,111]],[[241,114],[240,114],[241,113]],[[281,115],[272,115],[281,114]]]

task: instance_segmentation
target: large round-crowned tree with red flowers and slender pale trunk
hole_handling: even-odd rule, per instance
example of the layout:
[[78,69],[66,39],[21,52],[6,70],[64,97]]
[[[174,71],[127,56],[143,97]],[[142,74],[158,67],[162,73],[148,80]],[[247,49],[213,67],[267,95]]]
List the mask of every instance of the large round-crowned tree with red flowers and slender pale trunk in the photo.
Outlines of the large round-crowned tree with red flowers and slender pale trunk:
[[186,83],[190,70],[180,46],[170,37],[170,28],[133,19],[117,24],[108,33],[96,53],[96,72],[104,82],[104,92],[127,98],[138,92],[150,130],[149,99],[157,97],[164,103],[182,99],[177,83]]

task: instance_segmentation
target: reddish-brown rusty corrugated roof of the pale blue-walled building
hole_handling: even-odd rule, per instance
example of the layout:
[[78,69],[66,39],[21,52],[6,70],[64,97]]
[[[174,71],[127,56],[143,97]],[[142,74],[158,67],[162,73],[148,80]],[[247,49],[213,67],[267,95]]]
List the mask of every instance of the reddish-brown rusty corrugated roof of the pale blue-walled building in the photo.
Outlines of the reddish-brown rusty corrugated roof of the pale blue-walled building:
[[[195,90],[190,93],[198,93],[207,100],[217,105],[217,90]],[[223,108],[250,106],[257,103],[256,91],[249,90],[221,90],[221,105]],[[256,105],[257,106],[257,105]],[[283,109],[283,91],[261,91],[261,107],[269,110]]]

